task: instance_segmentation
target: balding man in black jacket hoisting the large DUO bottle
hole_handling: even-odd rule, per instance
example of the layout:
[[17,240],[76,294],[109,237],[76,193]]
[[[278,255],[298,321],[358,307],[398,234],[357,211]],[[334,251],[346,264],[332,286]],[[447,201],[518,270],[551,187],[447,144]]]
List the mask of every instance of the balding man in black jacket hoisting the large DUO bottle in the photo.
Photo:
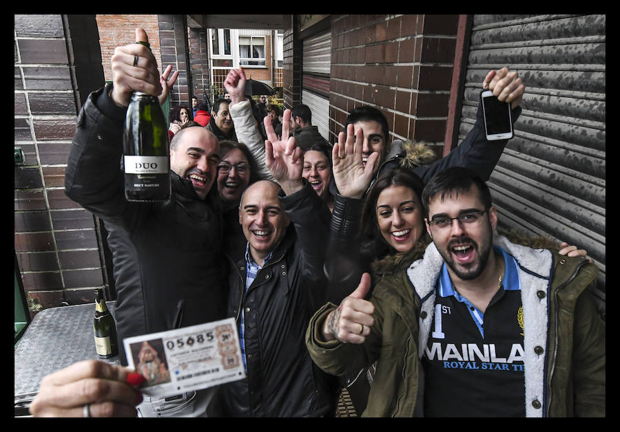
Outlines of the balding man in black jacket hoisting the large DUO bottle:
[[[213,133],[190,127],[174,136],[169,199],[130,202],[125,197],[119,162],[127,105],[136,91],[162,102],[178,76],[170,74],[171,66],[159,74],[141,28],[136,29],[136,42],[116,47],[113,82],[85,102],[65,173],[66,195],[99,216],[108,231],[118,341],[222,319],[227,296],[222,217],[217,191],[211,187],[219,162]],[[124,363],[121,343],[119,351]],[[146,400],[138,411],[145,417],[205,415],[214,391],[191,393],[166,402]],[[88,402],[85,413],[96,415],[103,409],[96,400]]]

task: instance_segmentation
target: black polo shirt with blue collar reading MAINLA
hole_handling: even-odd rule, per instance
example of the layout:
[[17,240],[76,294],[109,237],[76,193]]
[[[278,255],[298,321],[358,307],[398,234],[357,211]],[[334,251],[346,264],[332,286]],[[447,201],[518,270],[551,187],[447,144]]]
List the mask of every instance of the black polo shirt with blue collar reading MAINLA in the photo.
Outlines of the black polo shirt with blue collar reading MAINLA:
[[424,415],[525,415],[523,307],[517,262],[501,248],[502,286],[484,314],[457,292],[444,264],[422,356]]

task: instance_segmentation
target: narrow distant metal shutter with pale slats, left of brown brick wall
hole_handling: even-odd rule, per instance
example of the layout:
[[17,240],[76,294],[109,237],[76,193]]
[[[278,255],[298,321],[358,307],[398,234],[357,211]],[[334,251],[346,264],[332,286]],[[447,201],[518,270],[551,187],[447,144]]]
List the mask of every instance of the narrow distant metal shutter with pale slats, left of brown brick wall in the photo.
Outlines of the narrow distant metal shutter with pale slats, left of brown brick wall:
[[302,103],[312,111],[312,125],[327,139],[331,31],[304,39],[302,67]]

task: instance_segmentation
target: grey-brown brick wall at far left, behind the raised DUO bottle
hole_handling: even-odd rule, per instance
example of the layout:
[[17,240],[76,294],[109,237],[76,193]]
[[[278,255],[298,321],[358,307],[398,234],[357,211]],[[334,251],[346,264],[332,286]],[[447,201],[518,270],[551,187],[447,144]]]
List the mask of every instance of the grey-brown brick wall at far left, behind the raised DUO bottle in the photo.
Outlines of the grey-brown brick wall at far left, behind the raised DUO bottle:
[[31,314],[93,301],[103,286],[92,215],[64,193],[76,124],[71,48],[61,15],[15,15],[14,248]]

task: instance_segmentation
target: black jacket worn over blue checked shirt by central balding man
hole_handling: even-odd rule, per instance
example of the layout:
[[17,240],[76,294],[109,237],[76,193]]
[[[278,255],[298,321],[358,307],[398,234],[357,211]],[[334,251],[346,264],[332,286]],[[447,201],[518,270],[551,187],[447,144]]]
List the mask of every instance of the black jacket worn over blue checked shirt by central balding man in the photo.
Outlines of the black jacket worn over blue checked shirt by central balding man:
[[297,193],[280,193],[291,225],[247,292],[245,256],[234,261],[227,316],[239,323],[244,311],[247,378],[220,386],[225,416],[318,417],[335,411],[337,380],[314,365],[304,344],[309,319],[324,303],[331,215],[304,183]]

